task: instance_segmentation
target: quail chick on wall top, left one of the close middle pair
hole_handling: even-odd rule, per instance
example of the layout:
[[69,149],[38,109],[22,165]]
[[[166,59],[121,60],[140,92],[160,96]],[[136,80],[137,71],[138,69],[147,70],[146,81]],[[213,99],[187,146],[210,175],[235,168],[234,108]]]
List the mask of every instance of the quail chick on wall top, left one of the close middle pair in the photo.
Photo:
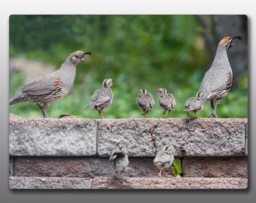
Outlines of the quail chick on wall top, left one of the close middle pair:
[[150,93],[147,92],[147,89],[139,89],[139,95],[136,99],[137,105],[143,110],[144,117],[147,117],[148,111],[154,107],[154,98]]

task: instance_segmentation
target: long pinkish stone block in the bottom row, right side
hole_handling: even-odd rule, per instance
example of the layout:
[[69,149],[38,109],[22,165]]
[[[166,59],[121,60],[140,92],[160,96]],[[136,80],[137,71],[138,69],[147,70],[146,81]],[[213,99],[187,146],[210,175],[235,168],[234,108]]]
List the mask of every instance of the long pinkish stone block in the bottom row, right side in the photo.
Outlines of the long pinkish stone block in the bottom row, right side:
[[199,177],[129,177],[114,180],[109,177],[93,179],[94,189],[246,189],[247,179]]

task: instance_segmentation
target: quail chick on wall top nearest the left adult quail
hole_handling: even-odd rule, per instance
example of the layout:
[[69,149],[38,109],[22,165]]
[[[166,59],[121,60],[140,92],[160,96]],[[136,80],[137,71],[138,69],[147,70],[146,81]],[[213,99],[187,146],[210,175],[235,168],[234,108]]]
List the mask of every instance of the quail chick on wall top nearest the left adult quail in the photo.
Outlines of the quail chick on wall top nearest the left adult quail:
[[99,112],[100,118],[103,119],[103,111],[105,111],[105,109],[108,108],[113,102],[114,95],[112,90],[110,89],[112,84],[112,78],[107,78],[103,80],[102,87],[96,89],[96,91],[93,92],[89,104],[86,105],[84,108],[94,107],[94,109]]

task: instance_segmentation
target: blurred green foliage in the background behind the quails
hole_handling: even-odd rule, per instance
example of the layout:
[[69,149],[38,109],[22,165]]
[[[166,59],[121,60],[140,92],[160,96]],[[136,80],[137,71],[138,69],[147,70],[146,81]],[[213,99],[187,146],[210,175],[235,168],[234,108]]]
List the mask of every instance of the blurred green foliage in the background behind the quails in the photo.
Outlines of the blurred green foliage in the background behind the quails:
[[[213,58],[201,29],[197,18],[190,15],[12,15],[10,57],[58,68],[75,50],[92,53],[78,65],[72,92],[48,106],[49,117],[99,118],[97,111],[84,106],[107,77],[114,78],[114,102],[105,111],[106,118],[141,118],[136,105],[140,88],[147,89],[156,103],[148,117],[163,117],[157,104],[159,87],[175,96],[177,106],[171,117],[186,117],[184,102],[196,95]],[[10,72],[10,98],[24,77],[19,71]],[[218,117],[247,117],[247,74],[242,80],[218,105]],[[38,107],[29,103],[11,105],[10,111],[21,117],[41,116]],[[209,114],[208,102],[198,116]]]

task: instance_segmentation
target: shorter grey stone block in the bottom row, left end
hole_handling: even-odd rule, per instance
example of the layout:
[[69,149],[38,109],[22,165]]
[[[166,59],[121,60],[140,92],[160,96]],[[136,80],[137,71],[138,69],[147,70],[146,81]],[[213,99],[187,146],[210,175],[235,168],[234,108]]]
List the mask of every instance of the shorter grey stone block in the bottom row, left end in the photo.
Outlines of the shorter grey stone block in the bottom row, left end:
[[78,177],[9,177],[10,189],[90,189],[91,183]]

